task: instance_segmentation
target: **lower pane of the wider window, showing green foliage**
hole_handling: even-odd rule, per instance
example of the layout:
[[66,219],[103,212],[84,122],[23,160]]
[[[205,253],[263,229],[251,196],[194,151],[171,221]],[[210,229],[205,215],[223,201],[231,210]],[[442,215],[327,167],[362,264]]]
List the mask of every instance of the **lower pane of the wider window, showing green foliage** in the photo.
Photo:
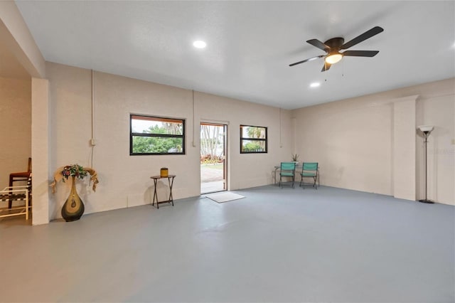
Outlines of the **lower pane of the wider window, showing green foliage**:
[[183,138],[133,136],[134,154],[180,154],[182,147]]

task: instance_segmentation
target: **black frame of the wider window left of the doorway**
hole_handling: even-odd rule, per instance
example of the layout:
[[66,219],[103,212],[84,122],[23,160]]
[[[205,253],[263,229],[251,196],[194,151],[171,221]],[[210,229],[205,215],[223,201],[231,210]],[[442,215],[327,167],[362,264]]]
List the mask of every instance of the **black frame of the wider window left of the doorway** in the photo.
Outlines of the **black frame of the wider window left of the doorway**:
[[[182,134],[149,134],[143,132],[133,132],[133,119],[134,117],[149,118],[151,121],[161,122],[177,122],[182,124]],[[129,114],[129,155],[130,156],[159,156],[159,155],[181,155],[186,154],[186,119],[141,115],[141,114]],[[158,137],[158,138],[181,138],[182,139],[182,151],[181,152],[144,152],[138,153],[133,152],[133,137]]]

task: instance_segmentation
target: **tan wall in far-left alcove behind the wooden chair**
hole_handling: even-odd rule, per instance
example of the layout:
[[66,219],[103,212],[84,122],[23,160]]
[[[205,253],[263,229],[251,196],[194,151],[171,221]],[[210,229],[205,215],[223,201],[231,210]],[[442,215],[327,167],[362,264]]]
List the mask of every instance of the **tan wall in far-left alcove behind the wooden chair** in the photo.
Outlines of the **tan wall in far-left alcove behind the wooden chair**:
[[0,188],[27,171],[31,156],[31,80],[0,78]]

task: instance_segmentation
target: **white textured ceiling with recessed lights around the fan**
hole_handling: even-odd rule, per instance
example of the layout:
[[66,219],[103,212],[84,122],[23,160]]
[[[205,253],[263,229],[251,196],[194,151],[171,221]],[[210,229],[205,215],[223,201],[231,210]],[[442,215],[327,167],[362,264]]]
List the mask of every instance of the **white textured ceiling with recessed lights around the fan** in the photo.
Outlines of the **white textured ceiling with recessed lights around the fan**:
[[[45,60],[286,109],[455,77],[455,1],[16,4]],[[350,48],[380,50],[374,58],[289,67],[323,55],[306,40],[374,26],[384,32]]]

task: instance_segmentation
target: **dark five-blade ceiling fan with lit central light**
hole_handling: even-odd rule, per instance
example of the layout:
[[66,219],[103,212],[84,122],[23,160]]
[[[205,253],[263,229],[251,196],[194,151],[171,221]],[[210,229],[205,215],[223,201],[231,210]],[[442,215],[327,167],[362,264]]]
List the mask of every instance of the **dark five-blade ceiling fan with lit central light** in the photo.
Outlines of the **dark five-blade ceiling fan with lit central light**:
[[[320,48],[321,50],[326,52],[326,55],[316,55],[316,57],[309,58],[306,60],[301,60],[296,63],[289,64],[289,66],[294,66],[300,63],[305,63],[307,61],[316,60],[317,58],[324,58],[324,65],[322,67],[321,72],[325,72],[328,70],[332,64],[337,63],[339,60],[343,58],[343,56],[351,56],[351,57],[374,57],[379,50],[346,50],[351,46],[355,46],[362,41],[367,40],[378,33],[381,33],[384,29],[380,26],[375,26],[371,28],[369,31],[365,31],[365,33],[360,34],[359,36],[353,38],[351,41],[344,43],[344,38],[336,37],[328,39],[326,42],[322,43],[318,39],[311,39],[306,41],[310,43],[312,46],[316,46],[316,48]],[[344,44],[343,44],[344,43]],[[343,53],[340,53],[340,50],[346,50]]]

